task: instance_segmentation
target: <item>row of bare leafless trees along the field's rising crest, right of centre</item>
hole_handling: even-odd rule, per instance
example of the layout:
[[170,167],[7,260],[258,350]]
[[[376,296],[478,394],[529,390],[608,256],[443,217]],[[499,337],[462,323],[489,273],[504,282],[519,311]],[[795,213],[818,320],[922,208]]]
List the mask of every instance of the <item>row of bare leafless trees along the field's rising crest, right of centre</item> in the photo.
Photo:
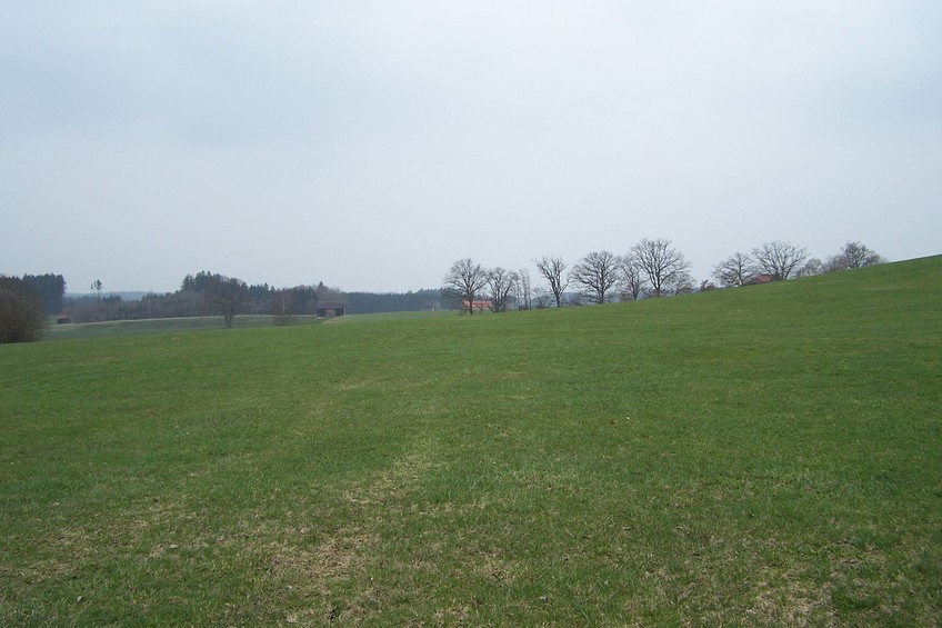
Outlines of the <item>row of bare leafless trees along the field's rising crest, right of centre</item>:
[[[591,303],[694,291],[690,262],[663,238],[644,238],[623,256],[593,251],[572,267],[558,256],[543,256],[534,261],[548,283],[548,291],[542,295],[549,296],[557,307],[564,305],[570,288],[577,295],[575,302]],[[776,240],[752,249],[751,253],[734,253],[714,267],[713,277],[720,287],[733,288],[882,261],[883,258],[860,242],[848,242],[838,255],[822,262],[809,259],[802,247]],[[710,281],[700,285],[701,290],[714,287]],[[533,302],[541,301],[539,291],[533,296],[525,270],[488,269],[470,258],[451,266],[442,282],[442,296],[460,302],[469,313],[483,307],[494,312],[505,311],[511,302],[520,309],[529,309]]]

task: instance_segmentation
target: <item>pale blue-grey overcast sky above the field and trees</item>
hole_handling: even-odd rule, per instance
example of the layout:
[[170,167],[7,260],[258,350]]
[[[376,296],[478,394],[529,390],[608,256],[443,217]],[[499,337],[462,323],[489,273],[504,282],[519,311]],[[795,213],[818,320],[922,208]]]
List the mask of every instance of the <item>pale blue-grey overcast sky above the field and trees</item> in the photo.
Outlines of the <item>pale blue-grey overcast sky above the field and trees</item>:
[[942,252],[942,2],[0,0],[0,273]]

